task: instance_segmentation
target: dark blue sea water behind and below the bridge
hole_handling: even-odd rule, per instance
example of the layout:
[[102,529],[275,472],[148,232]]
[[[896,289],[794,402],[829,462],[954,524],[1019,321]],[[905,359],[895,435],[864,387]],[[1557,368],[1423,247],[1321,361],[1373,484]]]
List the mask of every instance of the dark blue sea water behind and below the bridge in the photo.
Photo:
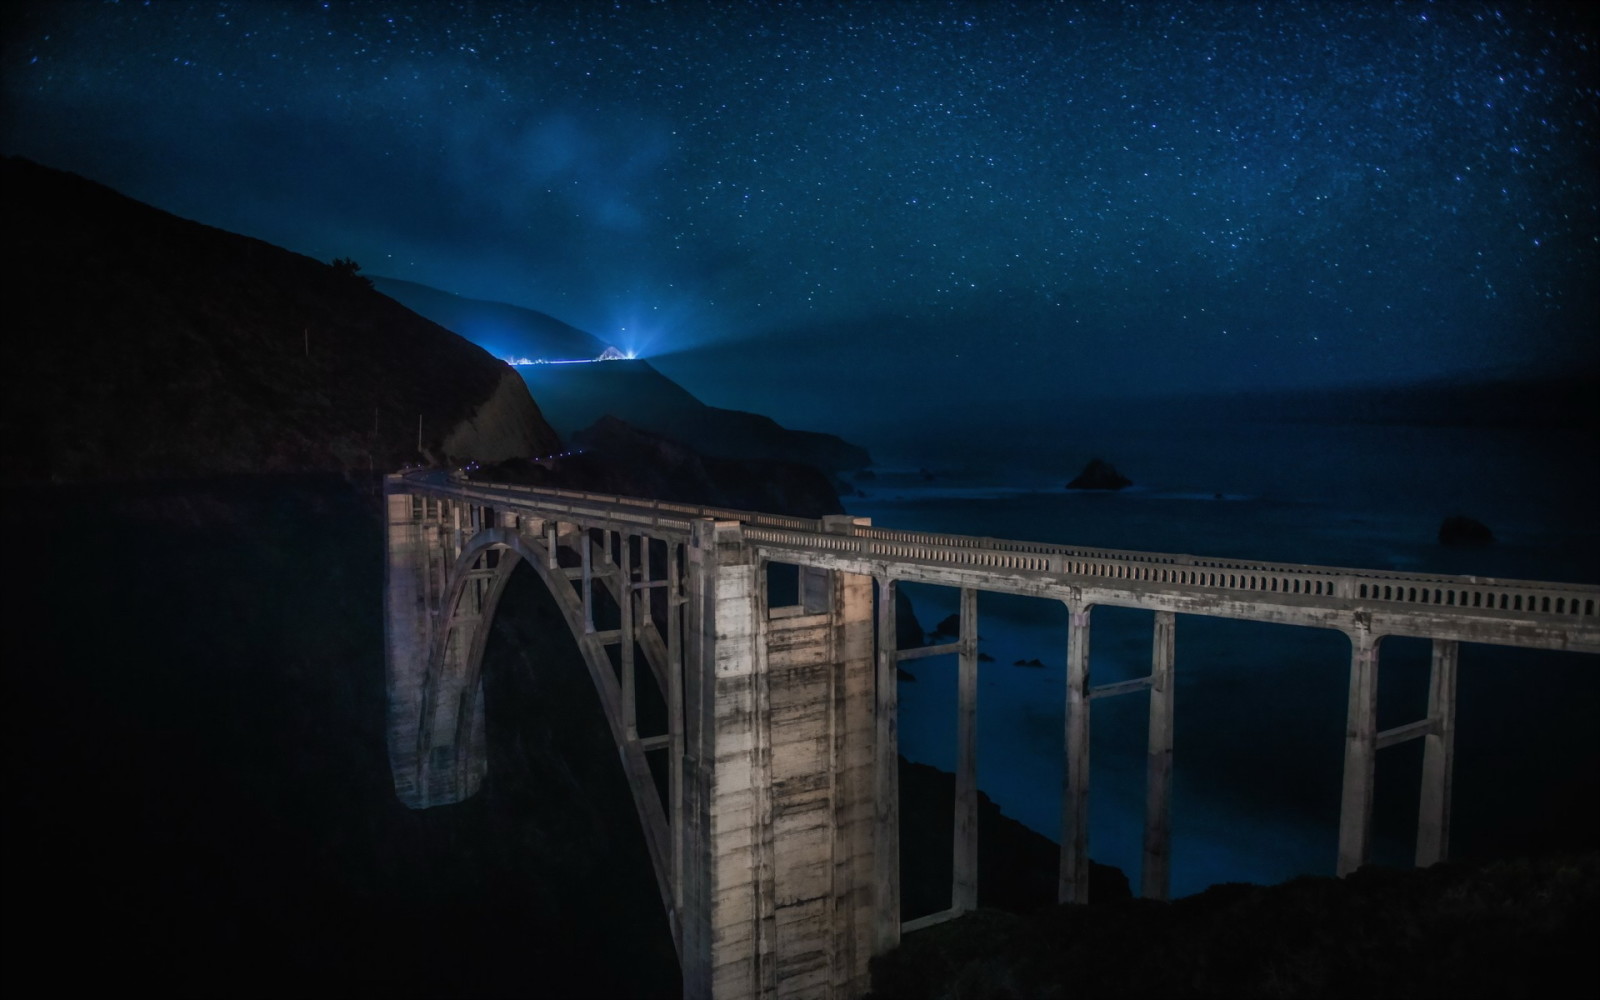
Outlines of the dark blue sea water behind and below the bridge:
[[[1600,582],[1594,442],[1576,432],[1230,424],[1102,427],[890,454],[851,514],[888,528],[1373,570]],[[976,456],[976,458],[974,458]],[[1088,458],[1134,480],[1064,488]],[[1440,546],[1475,517],[1480,549]],[[902,584],[925,629],[958,606]],[[1067,614],[979,594],[979,786],[1029,827],[1061,832]],[[1094,685],[1142,677],[1152,614],[1093,614]],[[1178,616],[1173,894],[1216,882],[1331,874],[1338,846],[1349,640],[1334,630]],[[1019,666],[1038,661],[1043,666]],[[906,664],[901,752],[955,766],[955,658]],[[1592,843],[1600,774],[1594,656],[1464,645],[1453,856]],[[1429,643],[1381,648],[1379,728],[1426,714]],[[1096,699],[1090,854],[1138,885],[1146,693]],[[1373,859],[1410,864],[1421,741],[1378,758]]]

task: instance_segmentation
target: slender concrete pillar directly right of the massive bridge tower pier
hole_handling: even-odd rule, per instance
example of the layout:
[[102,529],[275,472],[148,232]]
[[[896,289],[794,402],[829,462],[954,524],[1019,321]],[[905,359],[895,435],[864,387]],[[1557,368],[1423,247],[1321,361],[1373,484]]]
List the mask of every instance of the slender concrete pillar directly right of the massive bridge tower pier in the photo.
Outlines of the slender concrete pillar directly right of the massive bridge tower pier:
[[899,944],[899,664],[894,632],[894,581],[878,578],[877,771],[874,890],[877,891],[875,955]]

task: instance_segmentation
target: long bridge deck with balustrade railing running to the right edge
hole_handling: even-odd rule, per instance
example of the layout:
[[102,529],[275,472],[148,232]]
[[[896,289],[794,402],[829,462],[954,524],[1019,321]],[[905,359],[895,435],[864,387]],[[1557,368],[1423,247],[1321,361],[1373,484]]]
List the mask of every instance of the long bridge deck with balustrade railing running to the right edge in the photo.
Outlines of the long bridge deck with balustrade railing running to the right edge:
[[765,557],[880,579],[1374,635],[1600,653],[1600,586],[1395,573],[899,531],[626,496],[413,474],[406,491],[686,539],[738,522]]

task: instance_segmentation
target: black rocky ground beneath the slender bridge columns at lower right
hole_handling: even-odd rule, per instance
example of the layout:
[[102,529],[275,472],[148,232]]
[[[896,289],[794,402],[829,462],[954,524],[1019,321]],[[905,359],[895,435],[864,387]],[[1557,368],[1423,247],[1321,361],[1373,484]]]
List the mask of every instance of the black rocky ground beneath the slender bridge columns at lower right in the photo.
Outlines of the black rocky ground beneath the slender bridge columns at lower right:
[[979,910],[907,934],[872,997],[1592,997],[1600,854]]

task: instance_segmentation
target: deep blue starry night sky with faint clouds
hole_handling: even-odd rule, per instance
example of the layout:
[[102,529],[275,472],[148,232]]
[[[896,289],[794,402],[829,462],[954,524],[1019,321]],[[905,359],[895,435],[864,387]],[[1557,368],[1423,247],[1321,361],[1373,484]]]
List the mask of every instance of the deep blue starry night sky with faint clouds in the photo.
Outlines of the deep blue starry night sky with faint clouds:
[[1576,8],[8,5],[3,149],[800,426],[1550,370],[1600,354]]

